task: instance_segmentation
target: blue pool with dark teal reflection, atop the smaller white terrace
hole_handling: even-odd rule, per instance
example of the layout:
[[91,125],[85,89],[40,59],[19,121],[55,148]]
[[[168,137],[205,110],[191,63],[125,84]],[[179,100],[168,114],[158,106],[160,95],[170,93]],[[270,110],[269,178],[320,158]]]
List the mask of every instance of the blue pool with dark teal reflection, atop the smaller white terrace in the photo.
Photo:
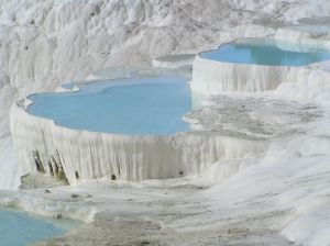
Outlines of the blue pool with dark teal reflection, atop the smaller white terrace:
[[200,53],[199,56],[223,63],[298,67],[330,59],[330,51],[251,38],[223,44],[217,51]]

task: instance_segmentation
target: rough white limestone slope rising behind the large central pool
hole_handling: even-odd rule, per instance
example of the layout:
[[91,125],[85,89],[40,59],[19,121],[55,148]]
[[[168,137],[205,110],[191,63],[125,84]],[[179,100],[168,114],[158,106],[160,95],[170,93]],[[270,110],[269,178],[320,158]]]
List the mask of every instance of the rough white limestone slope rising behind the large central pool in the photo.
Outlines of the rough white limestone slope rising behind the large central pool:
[[[272,26],[253,24],[273,2],[251,2],[261,11],[255,15],[244,11],[250,4],[237,10],[231,0],[1,1],[0,141],[10,146],[0,146],[0,189],[20,183],[18,161],[7,154],[13,153],[12,102],[85,80],[105,67],[150,67],[154,57],[196,54],[233,38],[274,33]],[[15,181],[2,183],[10,174]]]

